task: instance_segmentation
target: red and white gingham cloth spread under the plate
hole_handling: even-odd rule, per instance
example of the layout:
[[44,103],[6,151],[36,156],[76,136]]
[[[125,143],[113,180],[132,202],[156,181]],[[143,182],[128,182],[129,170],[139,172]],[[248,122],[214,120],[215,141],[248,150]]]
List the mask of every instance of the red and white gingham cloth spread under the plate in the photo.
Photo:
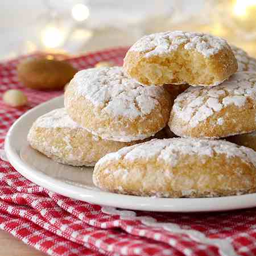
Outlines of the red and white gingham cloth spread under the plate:
[[[126,50],[68,61],[78,69],[104,60],[122,64]],[[16,77],[19,61],[0,64],[0,98],[16,88],[26,93],[29,105],[14,109],[0,100],[0,155],[15,119],[61,94],[24,88]],[[256,255],[256,209],[181,214],[101,207],[49,192],[1,159],[0,228],[49,255]]]

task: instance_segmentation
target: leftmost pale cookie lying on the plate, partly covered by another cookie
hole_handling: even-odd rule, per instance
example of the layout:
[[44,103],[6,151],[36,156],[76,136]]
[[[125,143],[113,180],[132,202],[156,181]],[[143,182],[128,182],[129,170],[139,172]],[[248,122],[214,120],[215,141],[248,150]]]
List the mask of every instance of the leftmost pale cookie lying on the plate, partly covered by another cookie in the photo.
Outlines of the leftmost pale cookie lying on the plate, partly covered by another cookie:
[[36,119],[28,133],[31,147],[58,163],[94,166],[104,155],[139,142],[105,141],[68,117],[64,108]]

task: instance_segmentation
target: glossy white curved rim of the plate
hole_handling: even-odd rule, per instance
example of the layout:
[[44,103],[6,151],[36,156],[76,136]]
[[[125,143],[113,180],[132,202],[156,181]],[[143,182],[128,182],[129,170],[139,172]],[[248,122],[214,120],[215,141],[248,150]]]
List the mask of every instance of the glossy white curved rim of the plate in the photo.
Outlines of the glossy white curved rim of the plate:
[[[17,148],[12,146],[13,136],[18,129],[20,122],[28,118],[31,113],[36,113],[46,106],[55,105],[57,101],[64,98],[63,95],[43,102],[35,108],[28,110],[21,115],[10,127],[5,138],[5,152],[10,164],[22,176],[40,185],[49,191],[60,195],[71,197],[72,199],[85,201],[90,204],[104,205],[108,207],[129,209],[129,210],[148,210],[151,212],[213,212],[221,210],[234,210],[256,207],[256,193],[225,197],[203,197],[203,198],[158,198],[122,195],[106,191],[93,191],[92,189],[79,187],[65,183],[36,170],[24,162],[17,152]],[[52,109],[54,109],[52,106]],[[60,108],[60,106],[55,106]],[[28,127],[29,129],[29,127]],[[213,209],[214,205],[214,209]]]

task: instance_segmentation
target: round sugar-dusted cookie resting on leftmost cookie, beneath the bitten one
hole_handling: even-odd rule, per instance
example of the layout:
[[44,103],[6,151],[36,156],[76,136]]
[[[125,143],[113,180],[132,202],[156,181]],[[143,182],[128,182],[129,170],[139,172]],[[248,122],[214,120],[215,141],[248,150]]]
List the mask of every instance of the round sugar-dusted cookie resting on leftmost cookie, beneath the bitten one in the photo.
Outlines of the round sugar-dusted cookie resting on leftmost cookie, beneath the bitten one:
[[172,100],[159,86],[142,86],[121,67],[78,72],[65,90],[69,116],[94,135],[111,141],[137,141],[163,129]]

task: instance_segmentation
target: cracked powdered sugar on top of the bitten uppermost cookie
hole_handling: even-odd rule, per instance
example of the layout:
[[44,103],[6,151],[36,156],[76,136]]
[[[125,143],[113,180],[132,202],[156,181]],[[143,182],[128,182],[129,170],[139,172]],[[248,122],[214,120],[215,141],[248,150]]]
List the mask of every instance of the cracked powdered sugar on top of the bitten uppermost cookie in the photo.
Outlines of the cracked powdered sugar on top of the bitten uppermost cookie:
[[184,49],[195,50],[209,58],[221,49],[229,48],[222,38],[200,32],[168,31],[143,36],[130,51],[146,52],[145,57],[166,55],[183,44]]

